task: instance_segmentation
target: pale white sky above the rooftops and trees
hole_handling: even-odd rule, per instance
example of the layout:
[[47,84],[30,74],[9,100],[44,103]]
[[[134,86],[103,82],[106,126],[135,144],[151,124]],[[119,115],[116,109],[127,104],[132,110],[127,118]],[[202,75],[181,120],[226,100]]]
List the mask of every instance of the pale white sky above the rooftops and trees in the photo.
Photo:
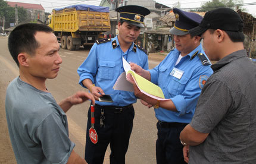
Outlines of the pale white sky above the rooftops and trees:
[[[68,5],[73,4],[88,4],[88,5],[99,5],[101,0],[4,0],[4,1],[11,1],[11,2],[23,2],[23,3],[30,3],[30,4],[41,4],[43,8],[45,8],[45,12],[52,12],[53,8],[62,8]],[[138,0],[139,1],[139,0]],[[208,0],[210,1],[210,0]],[[195,8],[200,7],[203,2],[207,2],[207,0],[156,0],[156,2],[160,4],[164,4],[168,7],[173,7],[173,4],[176,2],[180,2],[180,8]],[[254,3],[254,5],[248,5],[249,3]],[[246,9],[246,12],[252,14],[256,17],[256,0],[243,0],[244,6],[242,8]],[[247,4],[247,5],[246,5]]]

